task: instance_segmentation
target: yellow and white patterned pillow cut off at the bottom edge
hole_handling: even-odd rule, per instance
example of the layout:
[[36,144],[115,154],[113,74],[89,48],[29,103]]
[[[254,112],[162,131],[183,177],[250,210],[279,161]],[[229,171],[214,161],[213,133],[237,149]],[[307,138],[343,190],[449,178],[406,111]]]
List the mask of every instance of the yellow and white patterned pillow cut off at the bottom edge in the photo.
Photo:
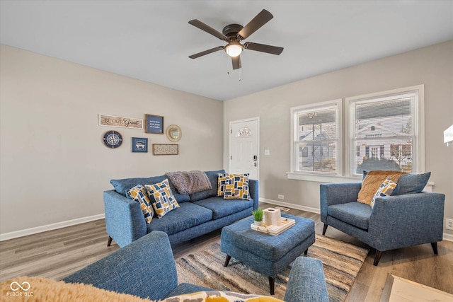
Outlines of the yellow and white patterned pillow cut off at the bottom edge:
[[199,291],[166,298],[162,302],[283,302],[271,296],[239,294],[234,291]]

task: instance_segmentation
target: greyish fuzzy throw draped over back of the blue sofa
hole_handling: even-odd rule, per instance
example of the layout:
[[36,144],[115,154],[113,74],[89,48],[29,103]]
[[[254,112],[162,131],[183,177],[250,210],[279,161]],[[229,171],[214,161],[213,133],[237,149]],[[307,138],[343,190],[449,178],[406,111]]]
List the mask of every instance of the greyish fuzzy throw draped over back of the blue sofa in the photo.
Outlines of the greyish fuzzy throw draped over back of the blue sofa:
[[207,178],[206,173],[200,170],[167,172],[165,175],[170,178],[180,194],[192,194],[212,189],[211,182]]

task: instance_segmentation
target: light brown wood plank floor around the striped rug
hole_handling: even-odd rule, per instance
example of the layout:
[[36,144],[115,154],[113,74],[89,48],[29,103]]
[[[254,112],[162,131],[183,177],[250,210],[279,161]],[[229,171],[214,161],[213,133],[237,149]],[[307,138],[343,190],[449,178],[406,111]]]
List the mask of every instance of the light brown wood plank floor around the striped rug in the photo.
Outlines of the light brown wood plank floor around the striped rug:
[[[260,204],[260,208],[270,207]],[[319,214],[290,209],[288,214],[313,219],[316,233],[322,233]],[[219,240],[220,231],[173,246],[175,257],[196,252]],[[329,227],[326,236],[367,247],[360,241]],[[0,281],[18,276],[40,276],[62,279],[72,272],[109,255],[119,247],[113,241],[107,247],[105,221],[69,226],[22,238],[0,242]],[[438,243],[439,255],[430,244],[384,252],[374,267],[374,250],[370,250],[362,269],[345,301],[379,301],[387,274],[410,279],[420,284],[453,294],[453,242]]]

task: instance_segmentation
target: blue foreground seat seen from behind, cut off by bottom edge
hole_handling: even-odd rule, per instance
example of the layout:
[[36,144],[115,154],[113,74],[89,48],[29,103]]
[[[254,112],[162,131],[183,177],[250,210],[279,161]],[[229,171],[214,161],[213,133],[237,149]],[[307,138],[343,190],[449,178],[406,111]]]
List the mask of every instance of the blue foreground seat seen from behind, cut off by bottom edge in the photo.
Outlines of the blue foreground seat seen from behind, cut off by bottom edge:
[[[178,284],[171,245],[166,233],[161,231],[152,231],[63,281],[91,284],[99,289],[153,300],[213,290],[195,284]],[[328,302],[321,260],[298,257],[294,261],[284,300]]]

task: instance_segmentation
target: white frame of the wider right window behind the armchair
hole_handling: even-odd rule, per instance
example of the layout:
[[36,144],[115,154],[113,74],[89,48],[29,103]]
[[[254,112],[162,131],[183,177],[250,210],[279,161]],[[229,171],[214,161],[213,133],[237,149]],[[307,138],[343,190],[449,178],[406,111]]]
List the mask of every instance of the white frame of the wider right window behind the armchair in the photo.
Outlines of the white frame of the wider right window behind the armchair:
[[414,100],[414,123],[413,123],[413,172],[425,172],[425,86],[410,86],[405,88],[392,89],[377,93],[368,93],[345,98],[345,176],[348,178],[361,178],[353,171],[356,149],[353,142],[355,127],[355,112],[353,104],[366,100],[391,98],[396,95],[415,94]]

